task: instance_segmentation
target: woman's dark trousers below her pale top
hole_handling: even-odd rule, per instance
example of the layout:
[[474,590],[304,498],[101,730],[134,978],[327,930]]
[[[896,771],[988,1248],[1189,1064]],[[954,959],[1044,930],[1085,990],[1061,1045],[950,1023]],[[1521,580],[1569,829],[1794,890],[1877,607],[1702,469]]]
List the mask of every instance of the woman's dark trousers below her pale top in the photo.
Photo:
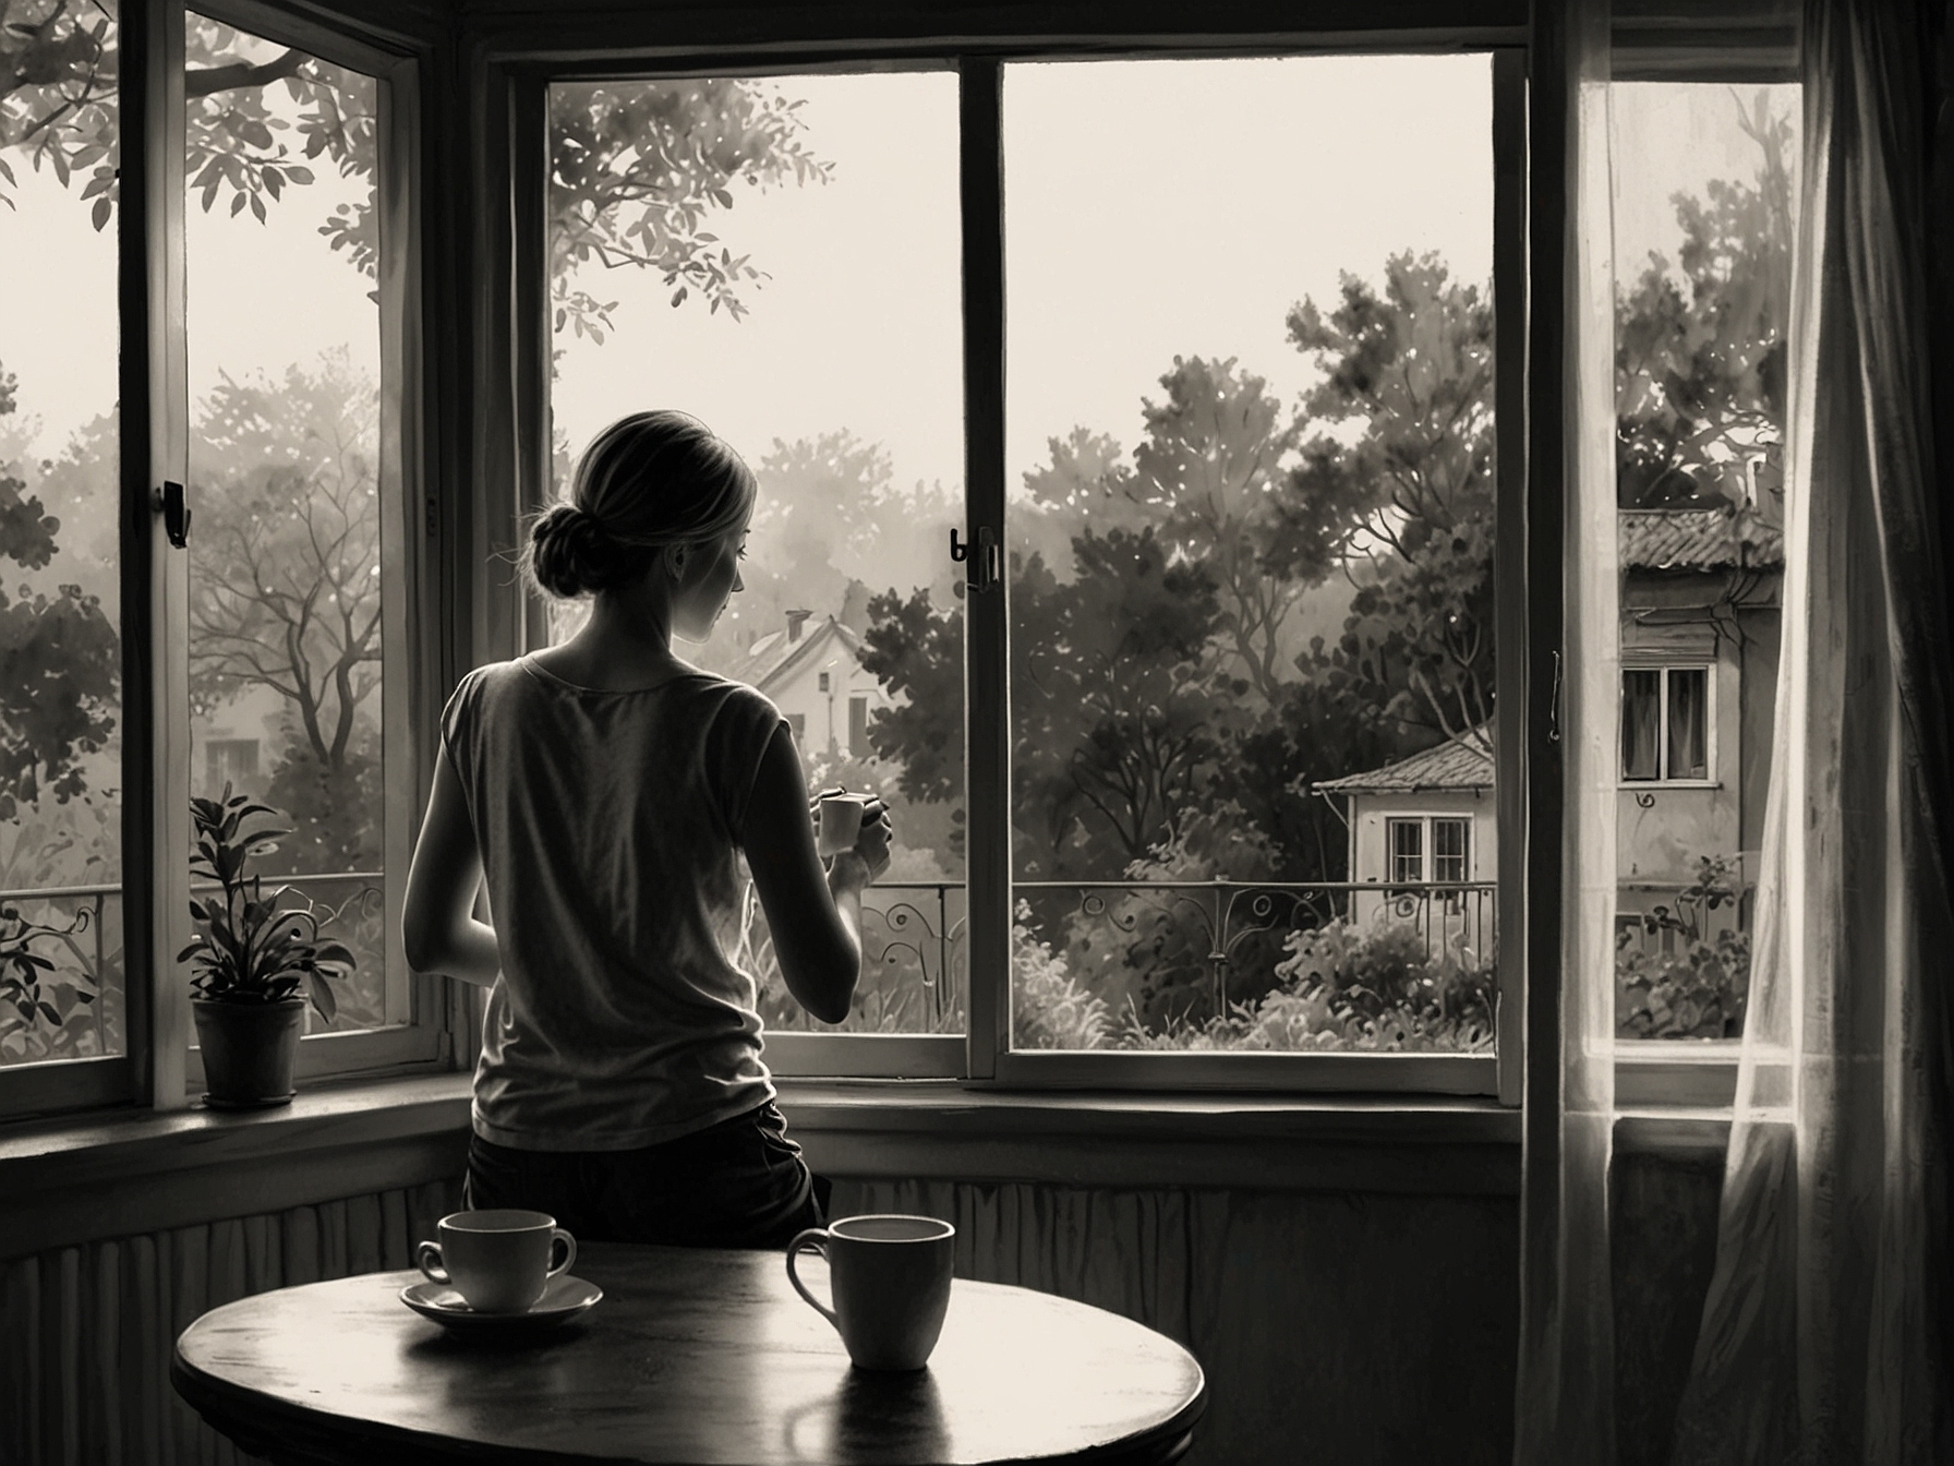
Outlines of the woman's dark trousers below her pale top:
[[469,1136],[461,1196],[471,1210],[549,1212],[578,1241],[786,1247],[827,1222],[828,1188],[768,1100],[631,1151],[528,1151]]

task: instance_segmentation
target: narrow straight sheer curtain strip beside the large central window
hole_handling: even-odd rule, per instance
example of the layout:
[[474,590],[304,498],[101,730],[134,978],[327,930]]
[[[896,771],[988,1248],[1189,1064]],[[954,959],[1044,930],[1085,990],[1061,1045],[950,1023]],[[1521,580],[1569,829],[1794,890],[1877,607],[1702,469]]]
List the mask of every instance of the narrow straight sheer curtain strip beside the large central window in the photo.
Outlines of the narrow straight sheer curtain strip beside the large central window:
[[[1528,407],[1536,424],[1563,424],[1559,463],[1546,465],[1559,473],[1565,506],[1559,696],[1546,715],[1567,805],[1561,946],[1551,964],[1528,962],[1518,1466],[1614,1460],[1608,1165],[1620,631],[1608,45],[1608,0],[1536,8],[1534,137],[1538,145],[1559,127],[1563,149],[1559,158],[1551,143],[1536,152],[1534,227],[1544,231],[1544,207],[1561,201],[1563,217],[1557,237],[1536,235],[1532,274],[1536,291],[1555,287],[1565,336],[1551,369],[1532,373]],[[1538,328],[1532,344],[1542,350]],[[1542,452],[1538,434],[1530,450]]]

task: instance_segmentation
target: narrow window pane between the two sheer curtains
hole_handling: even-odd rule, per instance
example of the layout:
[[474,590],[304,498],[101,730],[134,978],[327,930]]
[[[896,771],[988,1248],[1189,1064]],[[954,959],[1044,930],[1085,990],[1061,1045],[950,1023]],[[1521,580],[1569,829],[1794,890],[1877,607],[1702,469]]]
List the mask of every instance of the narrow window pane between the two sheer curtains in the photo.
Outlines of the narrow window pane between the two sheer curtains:
[[1624,672],[1622,772],[1704,780],[1620,794],[1616,1032],[1737,1038],[1776,743],[1800,96],[1618,84],[1612,127],[1620,647],[1669,665],[1667,711],[1657,672]]

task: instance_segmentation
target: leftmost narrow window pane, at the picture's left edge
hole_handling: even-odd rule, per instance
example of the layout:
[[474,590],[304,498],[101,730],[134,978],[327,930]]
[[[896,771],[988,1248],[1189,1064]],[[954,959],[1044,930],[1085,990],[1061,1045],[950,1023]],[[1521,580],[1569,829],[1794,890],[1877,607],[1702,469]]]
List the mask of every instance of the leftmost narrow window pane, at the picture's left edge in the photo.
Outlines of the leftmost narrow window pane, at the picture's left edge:
[[0,82],[0,1065],[125,1052],[115,14]]

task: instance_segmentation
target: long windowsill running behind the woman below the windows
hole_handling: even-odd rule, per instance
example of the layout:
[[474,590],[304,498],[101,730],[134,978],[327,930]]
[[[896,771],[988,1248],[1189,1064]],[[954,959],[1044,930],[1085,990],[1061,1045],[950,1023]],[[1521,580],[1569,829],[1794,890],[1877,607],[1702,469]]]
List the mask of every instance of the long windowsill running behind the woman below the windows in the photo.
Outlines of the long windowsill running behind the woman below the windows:
[[[817,1171],[1124,1188],[1516,1194],[1520,1114],[1485,1099],[1024,1093],[780,1079]],[[309,1085],[276,1110],[0,1128],[0,1255],[459,1175],[469,1075]],[[1624,1110],[1626,1151],[1721,1153],[1727,1110]]]

